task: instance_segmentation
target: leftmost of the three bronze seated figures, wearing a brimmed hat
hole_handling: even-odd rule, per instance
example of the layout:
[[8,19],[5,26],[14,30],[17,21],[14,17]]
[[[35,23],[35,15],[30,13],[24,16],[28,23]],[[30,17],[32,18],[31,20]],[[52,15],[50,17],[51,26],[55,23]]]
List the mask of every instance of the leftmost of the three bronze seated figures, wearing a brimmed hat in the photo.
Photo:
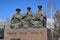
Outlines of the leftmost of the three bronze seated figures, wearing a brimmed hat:
[[16,9],[17,13],[13,16],[13,18],[11,19],[11,28],[19,28],[21,27],[21,19],[22,19],[22,15],[20,14],[20,9],[17,8]]

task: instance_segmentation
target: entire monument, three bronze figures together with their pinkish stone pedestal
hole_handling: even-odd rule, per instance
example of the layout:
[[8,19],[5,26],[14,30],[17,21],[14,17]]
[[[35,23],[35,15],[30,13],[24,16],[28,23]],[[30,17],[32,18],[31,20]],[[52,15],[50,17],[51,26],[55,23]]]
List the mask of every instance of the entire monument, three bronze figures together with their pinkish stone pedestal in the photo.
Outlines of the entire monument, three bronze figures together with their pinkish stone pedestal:
[[10,29],[5,30],[4,40],[52,40],[51,31],[46,28],[46,14],[42,6],[38,6],[36,15],[27,7],[27,13],[22,15],[16,9],[10,23]]

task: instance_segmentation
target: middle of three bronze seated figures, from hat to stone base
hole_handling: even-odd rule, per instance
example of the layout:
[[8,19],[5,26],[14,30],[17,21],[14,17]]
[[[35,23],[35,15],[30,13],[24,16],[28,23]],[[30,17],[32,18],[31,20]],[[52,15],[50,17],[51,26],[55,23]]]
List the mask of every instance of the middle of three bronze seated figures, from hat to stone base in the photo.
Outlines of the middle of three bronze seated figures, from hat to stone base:
[[31,8],[27,7],[28,12],[25,14],[25,16],[22,18],[23,19],[23,25],[24,27],[32,27],[31,21],[35,19],[35,15],[31,12]]

